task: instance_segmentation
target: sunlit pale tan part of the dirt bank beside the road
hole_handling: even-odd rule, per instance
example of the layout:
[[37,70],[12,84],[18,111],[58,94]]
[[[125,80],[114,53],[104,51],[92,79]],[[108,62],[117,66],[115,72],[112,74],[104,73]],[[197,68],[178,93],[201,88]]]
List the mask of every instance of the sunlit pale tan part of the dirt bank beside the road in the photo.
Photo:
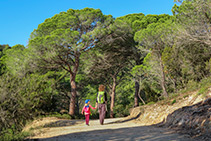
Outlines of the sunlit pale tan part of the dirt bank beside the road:
[[[197,95],[197,91],[181,94],[180,96],[168,101],[161,101],[152,105],[134,108],[130,112],[130,118],[138,116],[136,120],[143,125],[158,124],[166,121],[167,116],[174,111],[182,107],[191,106],[201,102],[208,97],[211,97],[211,89],[210,92],[207,93],[206,97]],[[176,100],[174,104],[172,104],[173,100]]]

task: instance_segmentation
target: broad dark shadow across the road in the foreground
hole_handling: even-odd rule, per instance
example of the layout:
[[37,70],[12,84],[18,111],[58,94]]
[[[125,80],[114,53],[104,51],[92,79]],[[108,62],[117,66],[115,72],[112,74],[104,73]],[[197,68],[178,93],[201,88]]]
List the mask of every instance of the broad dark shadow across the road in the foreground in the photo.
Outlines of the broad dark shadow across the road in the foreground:
[[[89,127],[88,127],[89,128]],[[184,135],[175,134],[166,128],[155,126],[138,126],[121,129],[94,130],[80,133],[71,133],[67,135],[55,136],[51,138],[41,138],[33,140],[42,141],[189,141],[193,140]],[[31,140],[32,141],[32,140]]]

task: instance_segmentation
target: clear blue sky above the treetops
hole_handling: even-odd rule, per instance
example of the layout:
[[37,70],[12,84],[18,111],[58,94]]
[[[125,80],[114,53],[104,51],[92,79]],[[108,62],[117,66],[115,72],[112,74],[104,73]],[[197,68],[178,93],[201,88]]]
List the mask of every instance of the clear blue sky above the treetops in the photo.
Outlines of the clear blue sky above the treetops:
[[45,19],[68,9],[101,9],[114,17],[132,13],[170,14],[173,0],[0,0],[0,44],[28,44]]

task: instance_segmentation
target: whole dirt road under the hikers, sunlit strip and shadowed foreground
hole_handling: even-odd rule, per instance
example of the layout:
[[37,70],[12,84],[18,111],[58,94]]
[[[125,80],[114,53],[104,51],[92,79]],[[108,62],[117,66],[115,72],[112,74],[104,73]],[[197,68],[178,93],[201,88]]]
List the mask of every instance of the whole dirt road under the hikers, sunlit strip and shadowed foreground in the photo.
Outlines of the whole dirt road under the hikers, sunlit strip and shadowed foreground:
[[[54,126],[54,127],[52,127]],[[56,126],[56,127],[55,127]],[[188,136],[165,128],[142,126],[123,118],[106,119],[104,125],[91,120],[86,126],[82,120],[58,120],[39,129],[40,134],[30,140],[46,141],[189,141]]]

